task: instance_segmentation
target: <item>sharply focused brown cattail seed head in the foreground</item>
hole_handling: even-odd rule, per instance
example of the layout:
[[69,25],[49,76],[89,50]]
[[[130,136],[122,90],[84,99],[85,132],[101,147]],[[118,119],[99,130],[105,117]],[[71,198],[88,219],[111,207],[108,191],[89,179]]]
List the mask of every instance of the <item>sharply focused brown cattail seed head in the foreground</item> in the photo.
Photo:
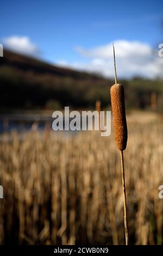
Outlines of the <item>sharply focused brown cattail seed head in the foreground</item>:
[[122,84],[114,84],[110,89],[110,94],[115,140],[117,148],[122,151],[126,149],[127,145],[127,122],[124,103],[124,89]]

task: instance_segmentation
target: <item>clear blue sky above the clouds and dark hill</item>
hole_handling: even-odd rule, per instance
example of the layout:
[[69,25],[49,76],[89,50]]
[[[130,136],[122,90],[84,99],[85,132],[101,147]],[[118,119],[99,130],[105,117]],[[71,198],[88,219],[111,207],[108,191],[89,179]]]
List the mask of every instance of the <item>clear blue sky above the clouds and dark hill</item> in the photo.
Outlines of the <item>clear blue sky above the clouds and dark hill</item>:
[[[26,37],[24,47],[28,43],[33,45],[33,55],[36,52],[48,62],[82,69],[97,57],[83,54],[81,47],[89,51],[112,41],[136,41],[152,48],[161,43],[162,2],[3,1],[1,42],[12,48],[13,40],[9,39],[15,36],[16,45],[19,39]],[[19,51],[19,46],[14,50]],[[22,51],[26,53],[23,46]]]

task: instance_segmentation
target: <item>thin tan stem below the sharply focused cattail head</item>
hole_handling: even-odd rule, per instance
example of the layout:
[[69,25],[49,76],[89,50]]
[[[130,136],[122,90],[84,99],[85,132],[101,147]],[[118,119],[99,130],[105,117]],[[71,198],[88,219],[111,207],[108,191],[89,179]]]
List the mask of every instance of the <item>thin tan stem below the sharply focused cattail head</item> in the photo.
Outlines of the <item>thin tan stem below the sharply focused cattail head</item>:
[[123,204],[124,204],[124,230],[125,230],[125,237],[126,237],[126,245],[128,245],[127,203],[126,203],[126,186],[125,186],[125,178],[124,178],[123,151],[121,151],[121,168],[122,168]]

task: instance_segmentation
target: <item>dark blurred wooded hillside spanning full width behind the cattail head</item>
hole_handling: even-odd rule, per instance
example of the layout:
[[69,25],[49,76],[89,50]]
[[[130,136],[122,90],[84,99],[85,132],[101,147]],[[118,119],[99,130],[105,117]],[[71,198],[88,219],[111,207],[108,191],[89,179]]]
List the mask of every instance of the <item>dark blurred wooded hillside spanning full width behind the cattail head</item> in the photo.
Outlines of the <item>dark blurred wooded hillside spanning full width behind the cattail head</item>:
[[[163,81],[119,81],[125,87],[126,107],[150,108],[151,95],[156,94],[157,106],[163,110]],[[20,54],[4,51],[0,58],[0,110],[94,108],[110,104],[112,80],[99,75],[58,68]]]

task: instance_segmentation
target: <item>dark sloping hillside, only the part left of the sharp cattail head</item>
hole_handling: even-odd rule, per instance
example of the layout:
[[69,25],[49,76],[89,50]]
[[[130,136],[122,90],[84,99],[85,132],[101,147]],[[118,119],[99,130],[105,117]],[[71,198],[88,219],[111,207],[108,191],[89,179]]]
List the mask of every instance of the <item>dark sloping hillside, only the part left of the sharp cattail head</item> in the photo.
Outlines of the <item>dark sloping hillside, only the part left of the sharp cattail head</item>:
[[9,51],[0,59],[0,82],[1,109],[91,107],[108,92],[108,81],[102,77]]

